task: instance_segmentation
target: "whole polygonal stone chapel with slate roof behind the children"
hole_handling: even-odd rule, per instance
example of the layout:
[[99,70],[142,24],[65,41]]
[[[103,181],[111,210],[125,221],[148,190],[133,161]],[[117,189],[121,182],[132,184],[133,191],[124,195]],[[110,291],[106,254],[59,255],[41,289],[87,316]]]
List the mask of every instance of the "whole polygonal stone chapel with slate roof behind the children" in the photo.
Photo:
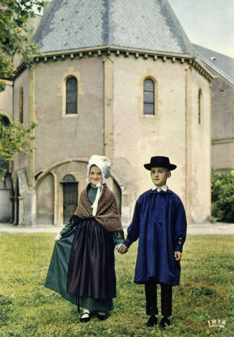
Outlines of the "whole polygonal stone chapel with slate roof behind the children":
[[212,74],[168,1],[46,5],[33,23],[40,51],[34,69],[21,60],[0,95],[0,113],[10,122],[38,123],[36,150],[17,154],[1,183],[4,220],[67,223],[92,154],[111,159],[107,184],[123,225],[152,187],[143,165],[156,155],[177,165],[167,183],[184,202],[188,223],[207,220]]

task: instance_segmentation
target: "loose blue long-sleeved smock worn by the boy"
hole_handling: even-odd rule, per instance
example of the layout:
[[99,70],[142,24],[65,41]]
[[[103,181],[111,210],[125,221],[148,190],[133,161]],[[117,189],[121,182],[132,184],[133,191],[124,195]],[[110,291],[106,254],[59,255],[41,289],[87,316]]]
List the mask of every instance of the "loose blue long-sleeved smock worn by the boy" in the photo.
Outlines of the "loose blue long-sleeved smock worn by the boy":
[[171,190],[149,190],[139,197],[124,242],[130,247],[139,239],[135,283],[155,277],[158,283],[179,284],[181,267],[174,251],[182,252],[186,227],[182,201]]

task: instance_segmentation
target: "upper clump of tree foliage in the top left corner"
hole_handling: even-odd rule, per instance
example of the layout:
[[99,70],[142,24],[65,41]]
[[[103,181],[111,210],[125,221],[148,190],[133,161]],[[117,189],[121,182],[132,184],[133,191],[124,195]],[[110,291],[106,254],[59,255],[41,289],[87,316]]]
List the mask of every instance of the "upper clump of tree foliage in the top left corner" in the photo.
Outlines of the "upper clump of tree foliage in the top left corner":
[[38,47],[29,40],[32,29],[28,23],[35,16],[34,9],[40,11],[42,6],[42,0],[0,1],[0,92],[6,86],[4,79],[11,79],[15,73],[15,53],[22,55],[27,66],[32,65]]

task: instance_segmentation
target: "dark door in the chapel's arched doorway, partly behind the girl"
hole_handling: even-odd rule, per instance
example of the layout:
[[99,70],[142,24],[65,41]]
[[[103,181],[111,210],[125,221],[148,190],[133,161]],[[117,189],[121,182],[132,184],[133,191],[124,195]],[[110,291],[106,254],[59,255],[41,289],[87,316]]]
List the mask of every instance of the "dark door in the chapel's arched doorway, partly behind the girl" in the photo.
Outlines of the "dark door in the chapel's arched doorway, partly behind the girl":
[[78,183],[63,183],[63,220],[67,224],[78,204]]

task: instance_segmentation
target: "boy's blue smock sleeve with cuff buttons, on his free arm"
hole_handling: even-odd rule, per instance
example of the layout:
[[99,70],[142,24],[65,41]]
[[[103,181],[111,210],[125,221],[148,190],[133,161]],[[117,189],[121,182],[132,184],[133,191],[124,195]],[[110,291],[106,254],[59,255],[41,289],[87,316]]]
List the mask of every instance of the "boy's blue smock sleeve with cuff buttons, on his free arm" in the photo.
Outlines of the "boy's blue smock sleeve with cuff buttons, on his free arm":
[[177,204],[176,219],[174,226],[174,251],[183,251],[183,245],[186,239],[187,221],[184,205],[181,200]]

